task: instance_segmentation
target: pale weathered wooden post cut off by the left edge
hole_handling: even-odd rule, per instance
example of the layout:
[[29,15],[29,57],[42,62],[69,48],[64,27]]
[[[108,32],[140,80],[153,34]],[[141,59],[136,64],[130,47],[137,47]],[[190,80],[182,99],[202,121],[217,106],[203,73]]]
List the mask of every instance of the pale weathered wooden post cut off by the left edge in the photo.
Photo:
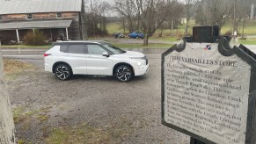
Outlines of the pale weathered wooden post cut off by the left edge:
[[4,83],[4,62],[0,51],[0,143],[15,144],[15,126],[13,122],[10,98]]

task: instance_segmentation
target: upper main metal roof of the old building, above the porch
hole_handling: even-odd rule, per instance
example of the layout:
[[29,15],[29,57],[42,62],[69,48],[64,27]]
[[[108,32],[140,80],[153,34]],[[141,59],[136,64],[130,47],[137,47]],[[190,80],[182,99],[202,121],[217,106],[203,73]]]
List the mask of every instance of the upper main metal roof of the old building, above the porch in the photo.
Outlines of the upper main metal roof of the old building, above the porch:
[[82,0],[26,0],[0,2],[0,15],[81,11]]

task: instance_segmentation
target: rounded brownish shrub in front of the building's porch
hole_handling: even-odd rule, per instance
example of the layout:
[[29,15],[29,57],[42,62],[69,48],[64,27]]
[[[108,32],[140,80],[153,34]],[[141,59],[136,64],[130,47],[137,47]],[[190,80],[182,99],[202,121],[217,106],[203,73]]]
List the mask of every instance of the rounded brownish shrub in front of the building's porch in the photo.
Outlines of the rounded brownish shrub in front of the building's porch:
[[31,46],[45,45],[46,37],[40,30],[30,31],[26,33],[24,43]]

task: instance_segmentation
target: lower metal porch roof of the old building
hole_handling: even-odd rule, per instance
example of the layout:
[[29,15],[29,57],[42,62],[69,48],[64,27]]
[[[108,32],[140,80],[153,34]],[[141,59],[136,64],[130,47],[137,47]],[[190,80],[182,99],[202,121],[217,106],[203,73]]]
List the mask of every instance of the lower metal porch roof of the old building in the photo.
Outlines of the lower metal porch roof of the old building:
[[69,27],[72,20],[40,20],[26,22],[0,23],[0,30],[13,29],[43,29],[43,28],[65,28]]

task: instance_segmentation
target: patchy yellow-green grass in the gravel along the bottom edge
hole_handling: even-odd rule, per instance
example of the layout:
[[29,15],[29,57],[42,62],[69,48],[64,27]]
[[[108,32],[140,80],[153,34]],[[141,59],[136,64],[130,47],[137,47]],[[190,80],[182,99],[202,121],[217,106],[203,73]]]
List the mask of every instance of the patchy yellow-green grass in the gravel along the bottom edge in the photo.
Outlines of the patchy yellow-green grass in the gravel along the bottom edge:
[[[121,143],[121,140],[135,133],[136,129],[149,126],[146,120],[137,121],[122,115],[104,126],[91,126],[89,123],[77,126],[61,126],[51,130],[45,139],[47,143]],[[139,126],[137,126],[139,125]]]

